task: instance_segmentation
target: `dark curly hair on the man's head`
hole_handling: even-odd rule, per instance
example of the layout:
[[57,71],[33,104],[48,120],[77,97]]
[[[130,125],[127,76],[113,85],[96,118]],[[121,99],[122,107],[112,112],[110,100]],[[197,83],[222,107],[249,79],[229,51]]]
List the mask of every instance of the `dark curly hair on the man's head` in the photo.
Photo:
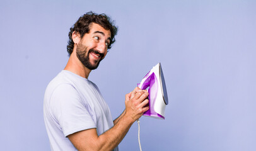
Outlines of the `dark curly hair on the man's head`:
[[84,34],[89,33],[89,26],[91,23],[96,23],[102,26],[105,30],[110,30],[111,39],[110,44],[108,45],[108,49],[110,49],[111,45],[115,42],[115,35],[117,35],[117,26],[115,26],[113,22],[114,21],[112,21],[106,14],[96,14],[92,11],[81,16],[69,31],[69,41],[67,42],[67,52],[69,55],[71,55],[74,48],[74,42],[72,39],[73,31],[78,32],[81,38],[83,38]]

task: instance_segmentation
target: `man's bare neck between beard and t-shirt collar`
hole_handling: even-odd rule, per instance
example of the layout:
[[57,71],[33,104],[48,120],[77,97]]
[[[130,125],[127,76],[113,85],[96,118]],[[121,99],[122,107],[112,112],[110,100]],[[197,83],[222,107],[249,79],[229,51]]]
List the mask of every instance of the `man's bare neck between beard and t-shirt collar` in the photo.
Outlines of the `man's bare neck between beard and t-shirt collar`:
[[70,72],[73,72],[74,74],[77,74],[78,76],[84,77],[86,79],[88,79],[88,76],[91,72],[90,69],[84,67],[74,52],[71,53],[64,70],[69,70]]

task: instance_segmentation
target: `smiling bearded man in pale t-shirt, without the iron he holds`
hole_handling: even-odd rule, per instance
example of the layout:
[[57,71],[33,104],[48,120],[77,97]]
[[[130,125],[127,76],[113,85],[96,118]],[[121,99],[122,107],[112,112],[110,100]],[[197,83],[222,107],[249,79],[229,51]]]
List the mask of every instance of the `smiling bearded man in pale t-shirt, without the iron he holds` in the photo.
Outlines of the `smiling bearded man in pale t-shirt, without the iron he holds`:
[[51,150],[118,150],[132,123],[149,109],[148,92],[125,95],[125,110],[112,120],[98,87],[88,80],[115,42],[117,28],[105,14],[86,13],[69,32],[69,60],[47,86],[44,120]]

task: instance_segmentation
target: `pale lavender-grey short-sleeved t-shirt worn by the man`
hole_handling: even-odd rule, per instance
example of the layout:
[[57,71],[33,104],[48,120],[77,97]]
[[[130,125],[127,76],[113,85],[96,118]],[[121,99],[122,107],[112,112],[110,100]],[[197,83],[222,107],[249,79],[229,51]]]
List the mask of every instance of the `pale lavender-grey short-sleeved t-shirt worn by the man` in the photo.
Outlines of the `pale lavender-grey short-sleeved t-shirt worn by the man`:
[[72,133],[96,128],[102,135],[113,126],[110,109],[98,87],[67,70],[62,70],[47,86],[44,120],[54,151],[76,150],[67,138]]

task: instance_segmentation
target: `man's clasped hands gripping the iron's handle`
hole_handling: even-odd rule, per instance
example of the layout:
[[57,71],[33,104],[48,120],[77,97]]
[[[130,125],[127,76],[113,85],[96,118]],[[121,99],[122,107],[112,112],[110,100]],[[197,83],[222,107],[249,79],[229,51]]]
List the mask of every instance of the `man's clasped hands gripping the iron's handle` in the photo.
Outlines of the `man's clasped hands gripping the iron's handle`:
[[132,92],[125,95],[125,116],[138,120],[145,111],[148,111],[148,91],[136,87]]

